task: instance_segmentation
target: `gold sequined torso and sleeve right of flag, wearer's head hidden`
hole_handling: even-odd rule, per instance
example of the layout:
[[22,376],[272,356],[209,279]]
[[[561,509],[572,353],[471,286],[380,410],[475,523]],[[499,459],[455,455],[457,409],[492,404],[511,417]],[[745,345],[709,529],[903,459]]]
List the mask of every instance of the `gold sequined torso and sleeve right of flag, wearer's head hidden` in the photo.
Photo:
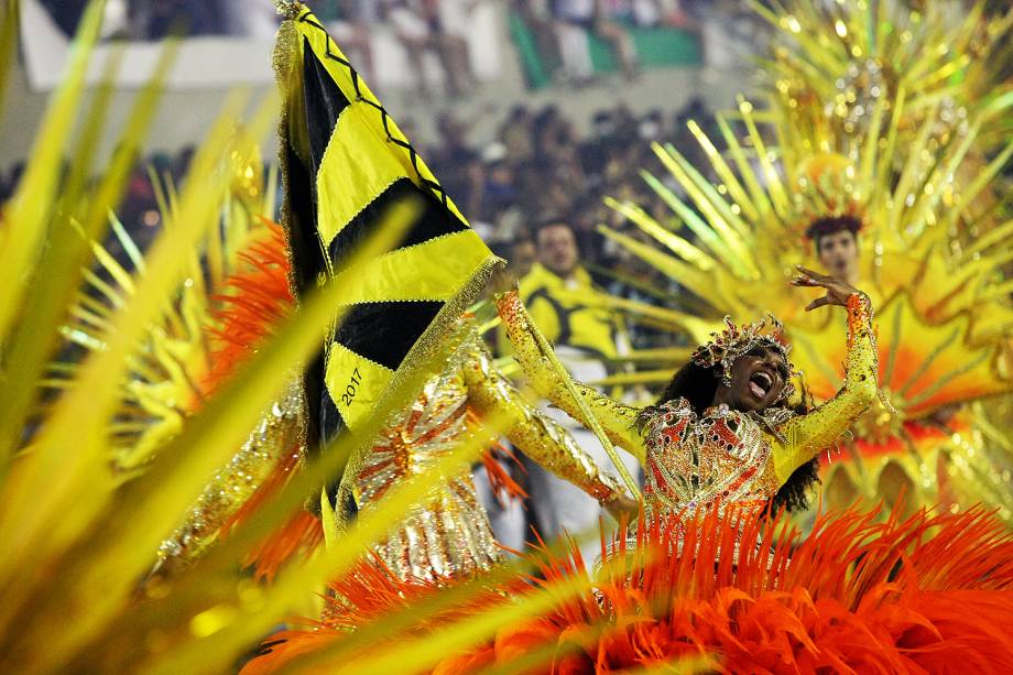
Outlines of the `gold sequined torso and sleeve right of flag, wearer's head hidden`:
[[[469,434],[486,434],[479,418],[505,416],[505,435],[534,461],[608,501],[619,483],[559,425],[527,403],[492,363],[473,327],[462,325],[447,369],[431,378],[411,405],[380,435],[355,477],[360,511],[374,508],[390,488],[432,467]],[[475,414],[469,414],[475,413]],[[489,438],[492,444],[495,438]],[[489,568],[499,547],[478,503],[469,466],[446,477],[375,551],[400,578],[434,579]]]

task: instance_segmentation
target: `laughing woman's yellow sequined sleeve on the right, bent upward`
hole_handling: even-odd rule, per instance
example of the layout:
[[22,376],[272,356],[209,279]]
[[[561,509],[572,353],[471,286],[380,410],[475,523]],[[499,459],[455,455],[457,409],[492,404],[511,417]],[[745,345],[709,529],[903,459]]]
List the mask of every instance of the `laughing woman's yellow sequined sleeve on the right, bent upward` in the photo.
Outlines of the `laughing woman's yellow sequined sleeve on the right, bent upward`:
[[834,445],[878,394],[879,359],[872,328],[872,304],[864,293],[848,298],[848,357],[845,387],[805,415],[793,417],[774,442],[774,470],[784,482],[799,466]]

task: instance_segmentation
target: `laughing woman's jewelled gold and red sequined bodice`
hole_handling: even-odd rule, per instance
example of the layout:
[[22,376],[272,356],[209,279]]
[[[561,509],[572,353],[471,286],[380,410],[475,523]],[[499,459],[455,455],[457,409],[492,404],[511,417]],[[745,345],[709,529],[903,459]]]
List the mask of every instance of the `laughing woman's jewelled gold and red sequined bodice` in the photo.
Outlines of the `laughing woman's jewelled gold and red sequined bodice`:
[[777,491],[770,439],[751,416],[726,405],[698,416],[685,399],[647,415],[644,499],[653,511],[761,508]]

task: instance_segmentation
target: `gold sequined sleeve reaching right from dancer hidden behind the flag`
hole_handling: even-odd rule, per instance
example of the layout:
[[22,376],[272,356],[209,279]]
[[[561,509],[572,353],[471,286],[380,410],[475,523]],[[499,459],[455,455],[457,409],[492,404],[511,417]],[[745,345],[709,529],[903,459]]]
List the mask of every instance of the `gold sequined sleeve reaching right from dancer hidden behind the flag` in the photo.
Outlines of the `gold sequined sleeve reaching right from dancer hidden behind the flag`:
[[506,438],[522,453],[599,501],[622,494],[618,481],[602,473],[566,429],[531,405],[492,364],[478,336],[462,347],[468,402],[478,413],[506,418]]

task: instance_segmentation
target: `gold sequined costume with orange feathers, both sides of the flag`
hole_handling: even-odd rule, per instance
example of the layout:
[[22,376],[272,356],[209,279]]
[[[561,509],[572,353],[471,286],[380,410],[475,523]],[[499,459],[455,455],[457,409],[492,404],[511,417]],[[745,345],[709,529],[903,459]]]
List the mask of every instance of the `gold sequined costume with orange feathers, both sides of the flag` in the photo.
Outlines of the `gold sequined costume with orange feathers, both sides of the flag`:
[[[247,260],[259,275],[237,284],[242,292],[231,298],[226,331],[238,336],[232,346],[240,351],[257,341],[244,342],[244,337],[269,334],[292,309],[288,263],[277,253],[281,232],[275,228],[272,233],[275,246],[248,251]],[[250,294],[257,300],[247,300]],[[272,309],[265,312],[268,307]],[[265,322],[265,315],[273,315],[273,320]],[[603,502],[621,494],[617,480],[601,472],[565,429],[529,404],[497,370],[473,323],[459,322],[449,339],[456,348],[449,351],[447,368],[426,381],[413,404],[393,418],[366,454],[352,480],[360,511],[374,509],[391,487],[429,469],[468,435],[488,435],[481,417],[492,411],[505,423],[510,442],[548,470]],[[302,390],[293,375],[290,389],[264,412],[243,446],[208,482],[186,521],[162,544],[160,557],[168,569],[200,555],[238,513],[248,510],[259,490],[283,482],[297,468],[303,411]],[[486,440],[492,446],[497,439]],[[269,542],[265,548],[272,552],[254,555],[250,563],[272,577],[287,556],[305,555],[323,541],[322,535],[318,521],[308,514],[296,516],[270,537],[293,540],[292,545]],[[477,500],[470,466],[439,481],[425,503],[413,508],[374,551],[402,579],[459,576],[492,565],[499,546]]]

